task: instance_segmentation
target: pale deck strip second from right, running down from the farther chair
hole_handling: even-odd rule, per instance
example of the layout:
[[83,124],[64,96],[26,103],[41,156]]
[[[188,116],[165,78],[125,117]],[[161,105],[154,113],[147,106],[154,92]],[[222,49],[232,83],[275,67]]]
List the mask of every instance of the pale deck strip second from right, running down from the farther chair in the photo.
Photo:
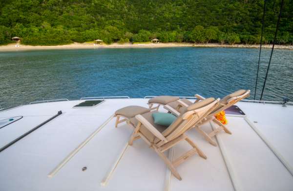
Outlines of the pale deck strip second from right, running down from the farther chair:
[[[216,127],[214,127],[213,122],[209,122],[209,123],[210,123],[210,126],[211,126],[212,130],[216,129]],[[224,162],[226,164],[226,168],[228,170],[233,189],[234,189],[234,191],[241,191],[242,189],[240,187],[240,184],[238,183],[236,175],[235,175],[235,172],[234,172],[234,170],[232,168],[232,165],[229,162],[229,159],[228,159],[228,156],[227,156],[227,151],[225,149],[224,143],[223,143],[222,139],[217,134],[215,135],[215,138],[216,138],[216,141],[218,143],[218,146],[219,146],[219,149],[221,151],[221,154],[222,154],[222,157],[224,159]]]

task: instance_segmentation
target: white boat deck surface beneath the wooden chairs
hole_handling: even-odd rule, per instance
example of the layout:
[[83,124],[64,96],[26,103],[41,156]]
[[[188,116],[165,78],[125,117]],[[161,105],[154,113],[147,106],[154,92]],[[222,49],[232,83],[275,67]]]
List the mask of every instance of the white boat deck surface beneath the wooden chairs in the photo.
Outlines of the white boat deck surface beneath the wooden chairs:
[[[224,131],[211,146],[197,131],[188,136],[208,156],[193,156],[177,167],[183,180],[170,176],[164,162],[139,139],[127,146],[132,133],[126,123],[114,127],[114,111],[129,105],[146,106],[147,99],[107,99],[93,108],[72,108],[83,101],[34,104],[0,112],[0,119],[23,118],[0,129],[0,147],[62,110],[63,114],[0,152],[2,191],[291,191],[293,176],[251,128],[250,121],[274,149],[293,166],[293,106],[238,103],[247,114],[228,117],[232,135]],[[164,111],[164,109],[161,109]],[[291,116],[292,117],[292,116]],[[92,132],[97,134],[53,177],[63,159]],[[248,120],[248,121],[247,121]],[[257,123],[253,123],[257,122]],[[204,128],[211,131],[211,124]],[[173,159],[188,149],[179,144]],[[121,153],[123,156],[119,158]],[[168,152],[166,152],[168,155]],[[119,160],[120,159],[120,160]],[[117,160],[117,166],[115,166]],[[86,170],[82,170],[86,167]],[[109,176],[108,176],[109,175]],[[101,183],[104,183],[101,185]]]

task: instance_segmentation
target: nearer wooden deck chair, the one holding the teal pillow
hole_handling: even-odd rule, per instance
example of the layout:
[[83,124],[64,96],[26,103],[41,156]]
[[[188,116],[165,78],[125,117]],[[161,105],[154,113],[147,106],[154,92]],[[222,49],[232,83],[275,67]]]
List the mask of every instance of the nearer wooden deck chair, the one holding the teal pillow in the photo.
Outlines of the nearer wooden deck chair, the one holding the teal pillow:
[[[185,132],[189,128],[200,123],[201,120],[217,106],[218,102],[219,99],[215,100],[214,98],[208,98],[186,107],[185,112],[180,114],[169,127],[156,125],[154,123],[152,113],[157,111],[150,111],[142,115],[136,115],[128,121],[128,124],[135,127],[128,144],[132,145],[134,140],[142,138],[150,146],[150,148],[154,149],[155,152],[163,159],[173,175],[177,179],[182,180],[175,167],[196,153],[198,153],[202,158],[207,159],[207,156],[203,153],[203,151],[188,138]],[[168,160],[164,154],[164,151],[174,147],[181,141],[187,141],[192,149],[174,161]]]

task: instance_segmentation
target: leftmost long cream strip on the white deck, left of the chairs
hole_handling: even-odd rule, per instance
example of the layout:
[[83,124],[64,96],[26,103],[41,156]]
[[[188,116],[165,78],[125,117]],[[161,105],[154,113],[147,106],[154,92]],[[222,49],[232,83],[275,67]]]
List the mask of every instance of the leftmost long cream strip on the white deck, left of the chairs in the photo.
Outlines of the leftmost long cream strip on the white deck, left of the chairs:
[[111,115],[100,127],[97,128],[90,136],[88,136],[76,149],[72,150],[63,161],[55,167],[49,174],[48,177],[52,178],[80,149],[82,149],[107,123],[111,121],[114,114]]

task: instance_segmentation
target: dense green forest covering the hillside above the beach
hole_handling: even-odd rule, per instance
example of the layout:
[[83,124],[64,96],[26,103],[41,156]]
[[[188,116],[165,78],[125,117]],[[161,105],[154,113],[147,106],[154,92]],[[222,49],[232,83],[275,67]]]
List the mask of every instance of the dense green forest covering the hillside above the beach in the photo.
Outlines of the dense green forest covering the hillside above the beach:
[[[259,43],[264,0],[0,0],[0,44],[112,42]],[[264,43],[272,43],[281,0],[267,0]],[[293,0],[277,38],[293,44]]]

